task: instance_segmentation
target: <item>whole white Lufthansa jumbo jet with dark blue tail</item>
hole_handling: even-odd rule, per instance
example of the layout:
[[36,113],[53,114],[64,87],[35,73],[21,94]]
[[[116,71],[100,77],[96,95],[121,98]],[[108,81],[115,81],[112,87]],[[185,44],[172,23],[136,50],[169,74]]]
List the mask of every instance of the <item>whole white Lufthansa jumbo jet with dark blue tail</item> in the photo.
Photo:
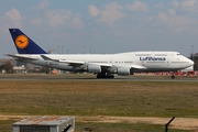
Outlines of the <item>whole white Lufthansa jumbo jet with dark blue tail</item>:
[[[178,52],[128,52],[118,54],[47,54],[19,29],[9,29],[19,54],[7,54],[20,62],[68,72],[87,72],[97,78],[113,78],[142,72],[177,72],[194,65]],[[174,74],[172,78],[175,78]]]

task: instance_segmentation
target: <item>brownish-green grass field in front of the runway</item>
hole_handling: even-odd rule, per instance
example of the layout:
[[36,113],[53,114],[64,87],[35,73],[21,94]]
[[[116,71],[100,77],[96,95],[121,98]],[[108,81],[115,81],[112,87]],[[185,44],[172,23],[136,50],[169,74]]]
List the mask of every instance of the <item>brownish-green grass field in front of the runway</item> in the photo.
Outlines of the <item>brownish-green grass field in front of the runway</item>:
[[96,131],[158,132],[164,131],[162,124],[129,120],[102,123],[98,117],[198,119],[197,100],[198,81],[0,80],[0,116],[10,117],[0,119],[0,131],[11,131],[11,124],[19,120],[13,116],[74,116],[76,131],[94,127]]

